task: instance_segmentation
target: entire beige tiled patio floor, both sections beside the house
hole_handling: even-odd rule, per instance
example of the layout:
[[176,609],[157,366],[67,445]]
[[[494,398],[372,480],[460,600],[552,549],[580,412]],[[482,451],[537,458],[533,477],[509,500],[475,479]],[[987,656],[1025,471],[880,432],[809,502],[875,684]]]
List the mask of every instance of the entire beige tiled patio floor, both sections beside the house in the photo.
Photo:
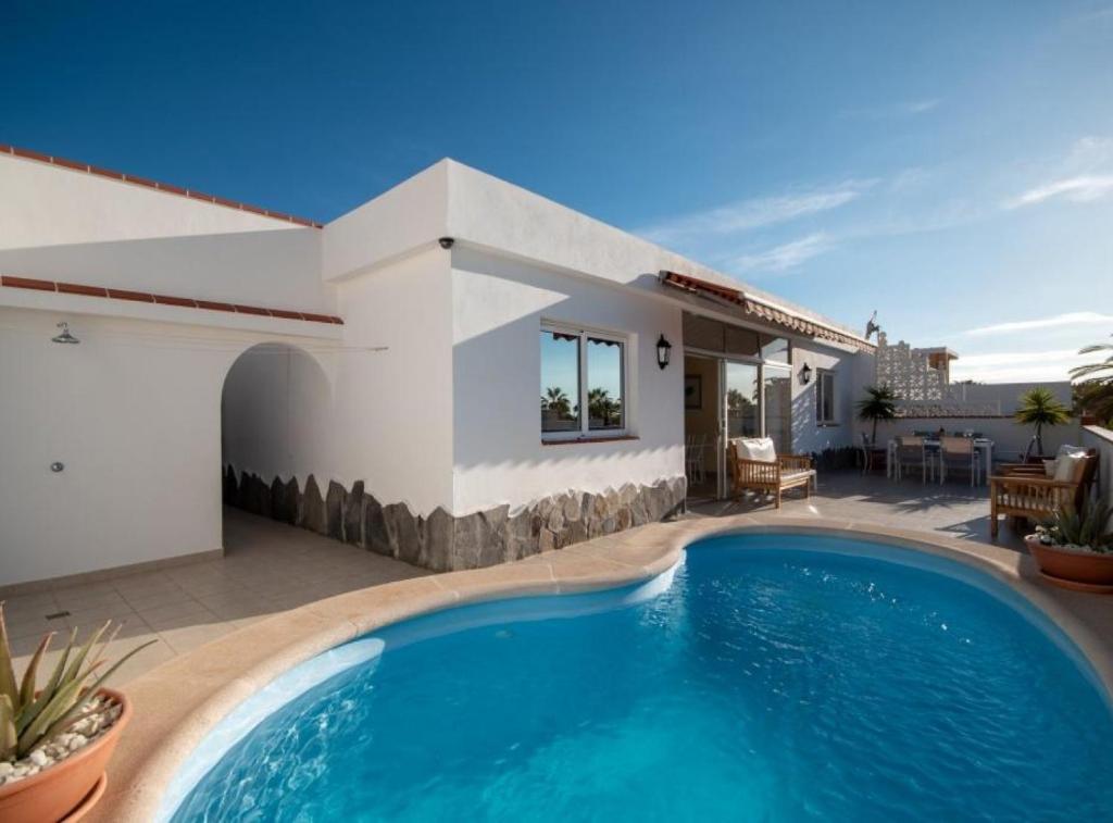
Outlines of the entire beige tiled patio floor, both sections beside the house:
[[[771,510],[771,503],[703,502],[692,517]],[[989,541],[988,499],[984,487],[938,486],[858,472],[824,472],[818,492],[804,500],[790,492],[781,511],[791,517],[827,517]],[[997,543],[1023,551],[1017,532],[1002,523]],[[116,685],[269,615],[353,589],[430,572],[319,537],[273,520],[225,510],[223,559],[58,588],[10,598],[6,605],[17,670],[22,670],[39,638],[71,626],[81,637],[108,618],[125,628],[110,649],[117,657],[148,639],[150,648],[125,664]],[[68,613],[61,617],[47,615]],[[57,651],[43,663],[49,670]]]

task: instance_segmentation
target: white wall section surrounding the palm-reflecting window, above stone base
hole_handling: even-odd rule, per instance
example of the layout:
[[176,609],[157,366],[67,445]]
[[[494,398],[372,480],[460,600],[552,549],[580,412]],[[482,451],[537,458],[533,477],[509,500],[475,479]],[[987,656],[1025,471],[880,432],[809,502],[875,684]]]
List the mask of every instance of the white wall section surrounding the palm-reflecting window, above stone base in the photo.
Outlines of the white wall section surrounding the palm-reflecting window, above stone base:
[[[452,264],[455,513],[683,474],[678,306],[473,248],[454,248]],[[542,319],[631,335],[637,440],[542,445]],[[664,371],[657,365],[661,333],[673,344]]]

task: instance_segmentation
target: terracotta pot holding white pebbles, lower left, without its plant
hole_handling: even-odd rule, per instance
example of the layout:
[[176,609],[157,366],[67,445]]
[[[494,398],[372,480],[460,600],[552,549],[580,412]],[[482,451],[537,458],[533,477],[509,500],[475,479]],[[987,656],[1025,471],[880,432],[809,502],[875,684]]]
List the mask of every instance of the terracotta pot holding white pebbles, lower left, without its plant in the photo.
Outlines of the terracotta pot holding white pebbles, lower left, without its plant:
[[[0,821],[3,823],[53,823],[75,821],[88,812],[104,792],[101,778],[120,733],[131,719],[131,704],[119,692],[100,694],[120,705],[111,728],[60,763],[0,786]],[[88,801],[88,802],[87,802]]]

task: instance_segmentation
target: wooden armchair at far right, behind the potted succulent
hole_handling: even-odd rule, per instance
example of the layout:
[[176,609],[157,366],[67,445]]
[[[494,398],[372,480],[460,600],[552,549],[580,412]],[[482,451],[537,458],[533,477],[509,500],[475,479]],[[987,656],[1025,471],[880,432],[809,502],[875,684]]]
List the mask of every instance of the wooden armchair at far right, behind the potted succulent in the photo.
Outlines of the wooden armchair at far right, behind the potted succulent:
[[1067,480],[1046,476],[1043,466],[1024,463],[999,467],[989,478],[989,533],[997,537],[999,515],[1044,520],[1064,506],[1081,511],[1097,472],[1097,450],[1087,449]]

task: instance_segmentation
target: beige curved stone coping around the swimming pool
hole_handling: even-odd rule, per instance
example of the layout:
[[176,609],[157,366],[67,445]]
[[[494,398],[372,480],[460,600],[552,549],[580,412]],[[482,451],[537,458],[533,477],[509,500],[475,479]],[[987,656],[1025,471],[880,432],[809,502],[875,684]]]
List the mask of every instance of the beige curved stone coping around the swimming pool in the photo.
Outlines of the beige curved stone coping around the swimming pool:
[[672,567],[693,541],[733,532],[880,538],[975,567],[1051,618],[1113,695],[1113,600],[1048,585],[1027,555],[939,533],[774,512],[650,523],[501,566],[348,591],[275,615],[161,664],[125,689],[135,715],[109,764],[108,790],[88,820],[154,820],[165,788],[209,729],[275,677],[334,646],[387,624],[469,602],[639,582]]

